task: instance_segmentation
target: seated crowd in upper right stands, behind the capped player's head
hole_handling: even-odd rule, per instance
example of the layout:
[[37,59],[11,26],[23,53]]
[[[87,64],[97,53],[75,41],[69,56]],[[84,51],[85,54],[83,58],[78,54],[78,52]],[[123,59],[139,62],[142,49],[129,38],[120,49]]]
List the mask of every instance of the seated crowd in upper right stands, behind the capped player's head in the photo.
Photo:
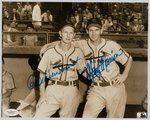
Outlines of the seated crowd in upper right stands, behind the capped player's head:
[[100,19],[103,30],[106,33],[145,31],[142,13],[135,13],[127,8],[124,8],[123,12],[121,12],[119,5],[115,4],[112,12],[109,14],[102,14],[101,9],[103,8],[100,8],[98,4],[91,4],[87,4],[84,7],[77,4],[73,13],[70,15],[69,19],[74,23],[77,32],[85,32],[87,21],[91,18]]

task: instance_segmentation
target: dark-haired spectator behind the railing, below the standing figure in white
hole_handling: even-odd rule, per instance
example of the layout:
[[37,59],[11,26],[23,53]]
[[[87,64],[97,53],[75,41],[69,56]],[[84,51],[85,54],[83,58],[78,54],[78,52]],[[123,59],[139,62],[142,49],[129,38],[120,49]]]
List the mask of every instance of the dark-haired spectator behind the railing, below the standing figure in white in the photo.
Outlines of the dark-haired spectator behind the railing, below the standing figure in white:
[[30,33],[34,32],[34,27],[32,24],[27,25],[27,32],[29,32],[29,34],[27,34],[23,37],[24,45],[36,46],[37,42],[38,42],[38,37],[35,34],[30,34]]

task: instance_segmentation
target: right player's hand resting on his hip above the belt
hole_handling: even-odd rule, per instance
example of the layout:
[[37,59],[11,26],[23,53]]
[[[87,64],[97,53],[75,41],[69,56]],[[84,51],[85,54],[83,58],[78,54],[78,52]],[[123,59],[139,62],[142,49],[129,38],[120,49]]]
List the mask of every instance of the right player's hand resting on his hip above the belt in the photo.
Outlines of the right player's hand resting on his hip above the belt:
[[113,81],[112,85],[119,87],[125,80],[127,79],[127,75],[119,74]]

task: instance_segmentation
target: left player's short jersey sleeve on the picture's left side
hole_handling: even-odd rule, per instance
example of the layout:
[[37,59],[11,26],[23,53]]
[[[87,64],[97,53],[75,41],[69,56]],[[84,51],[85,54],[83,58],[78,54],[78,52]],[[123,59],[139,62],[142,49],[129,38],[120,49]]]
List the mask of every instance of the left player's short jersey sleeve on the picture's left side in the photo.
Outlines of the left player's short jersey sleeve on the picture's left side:
[[48,51],[47,51],[47,52],[45,52],[45,54],[43,55],[43,57],[39,63],[38,71],[45,74],[48,69],[48,65],[50,65],[49,61],[50,60],[49,60],[49,55],[48,55]]

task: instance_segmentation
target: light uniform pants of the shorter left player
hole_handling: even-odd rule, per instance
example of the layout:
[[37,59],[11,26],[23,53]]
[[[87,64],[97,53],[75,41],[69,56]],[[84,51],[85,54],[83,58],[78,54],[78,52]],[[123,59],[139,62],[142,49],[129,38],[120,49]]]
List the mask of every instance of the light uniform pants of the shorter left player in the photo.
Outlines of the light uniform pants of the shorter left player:
[[48,85],[46,96],[48,103],[43,102],[36,109],[35,117],[50,117],[58,109],[60,117],[75,117],[81,97],[77,87]]

